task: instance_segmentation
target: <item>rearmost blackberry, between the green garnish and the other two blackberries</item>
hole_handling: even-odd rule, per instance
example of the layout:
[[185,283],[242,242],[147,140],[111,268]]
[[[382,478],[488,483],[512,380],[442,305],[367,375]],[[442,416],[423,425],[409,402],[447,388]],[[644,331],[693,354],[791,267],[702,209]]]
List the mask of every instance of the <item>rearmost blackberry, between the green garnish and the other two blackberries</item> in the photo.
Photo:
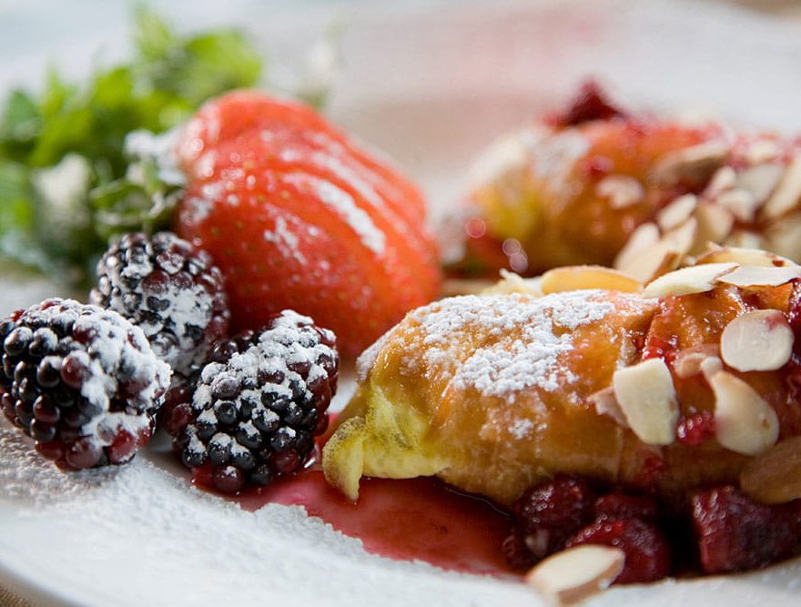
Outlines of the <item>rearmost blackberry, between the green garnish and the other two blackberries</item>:
[[137,324],[181,375],[201,365],[228,332],[222,274],[206,251],[171,232],[120,238],[97,263],[89,299]]

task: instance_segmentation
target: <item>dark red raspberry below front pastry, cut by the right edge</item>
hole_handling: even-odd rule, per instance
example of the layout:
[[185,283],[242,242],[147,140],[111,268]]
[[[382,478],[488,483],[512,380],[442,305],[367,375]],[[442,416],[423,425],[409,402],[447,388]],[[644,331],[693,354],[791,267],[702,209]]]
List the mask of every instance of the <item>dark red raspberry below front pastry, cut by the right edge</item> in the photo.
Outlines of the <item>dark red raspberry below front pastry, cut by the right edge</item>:
[[692,513],[707,573],[764,567],[788,556],[801,539],[796,502],[758,504],[731,486],[696,494]]

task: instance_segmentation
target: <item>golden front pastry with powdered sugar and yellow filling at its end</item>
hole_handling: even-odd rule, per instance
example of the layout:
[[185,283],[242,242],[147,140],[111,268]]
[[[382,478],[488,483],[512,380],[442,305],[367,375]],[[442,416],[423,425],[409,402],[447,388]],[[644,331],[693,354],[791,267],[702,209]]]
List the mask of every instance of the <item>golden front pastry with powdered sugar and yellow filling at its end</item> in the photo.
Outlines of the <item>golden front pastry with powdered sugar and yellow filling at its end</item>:
[[[677,354],[715,349],[728,322],[748,309],[786,311],[790,290],[464,296],[415,310],[360,360],[359,389],[324,452],[327,476],[355,497],[354,471],[342,462],[359,451],[356,481],[436,474],[501,503],[557,472],[664,495],[735,481],[747,456],[715,439],[645,444],[590,397],[612,384],[616,369],[660,357],[681,418],[714,410],[703,374],[677,377]],[[781,373],[728,370],[776,410],[782,436],[801,431]],[[350,459],[342,457],[348,451]]]

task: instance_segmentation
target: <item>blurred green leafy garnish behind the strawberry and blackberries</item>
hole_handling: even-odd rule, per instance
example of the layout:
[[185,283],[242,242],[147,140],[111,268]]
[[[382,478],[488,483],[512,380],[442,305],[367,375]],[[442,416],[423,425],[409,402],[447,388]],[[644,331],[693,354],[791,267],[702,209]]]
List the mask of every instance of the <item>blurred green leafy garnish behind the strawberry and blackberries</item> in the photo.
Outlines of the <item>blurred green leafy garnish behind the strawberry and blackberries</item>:
[[0,255],[79,282],[108,238],[166,228],[180,184],[147,152],[126,150],[126,137],[164,133],[209,97],[261,78],[262,58],[237,30],[181,35],[140,7],[134,42],[129,63],[85,83],[51,69],[41,93],[5,99]]

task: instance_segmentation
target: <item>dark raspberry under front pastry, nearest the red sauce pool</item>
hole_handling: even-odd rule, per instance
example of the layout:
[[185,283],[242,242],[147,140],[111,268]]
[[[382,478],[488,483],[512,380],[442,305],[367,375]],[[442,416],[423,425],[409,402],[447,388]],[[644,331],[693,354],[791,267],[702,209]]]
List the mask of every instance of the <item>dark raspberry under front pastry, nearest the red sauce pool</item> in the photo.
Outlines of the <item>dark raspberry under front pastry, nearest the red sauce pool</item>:
[[555,551],[593,520],[595,491],[583,479],[558,475],[525,491],[512,506],[515,531],[534,562]]

